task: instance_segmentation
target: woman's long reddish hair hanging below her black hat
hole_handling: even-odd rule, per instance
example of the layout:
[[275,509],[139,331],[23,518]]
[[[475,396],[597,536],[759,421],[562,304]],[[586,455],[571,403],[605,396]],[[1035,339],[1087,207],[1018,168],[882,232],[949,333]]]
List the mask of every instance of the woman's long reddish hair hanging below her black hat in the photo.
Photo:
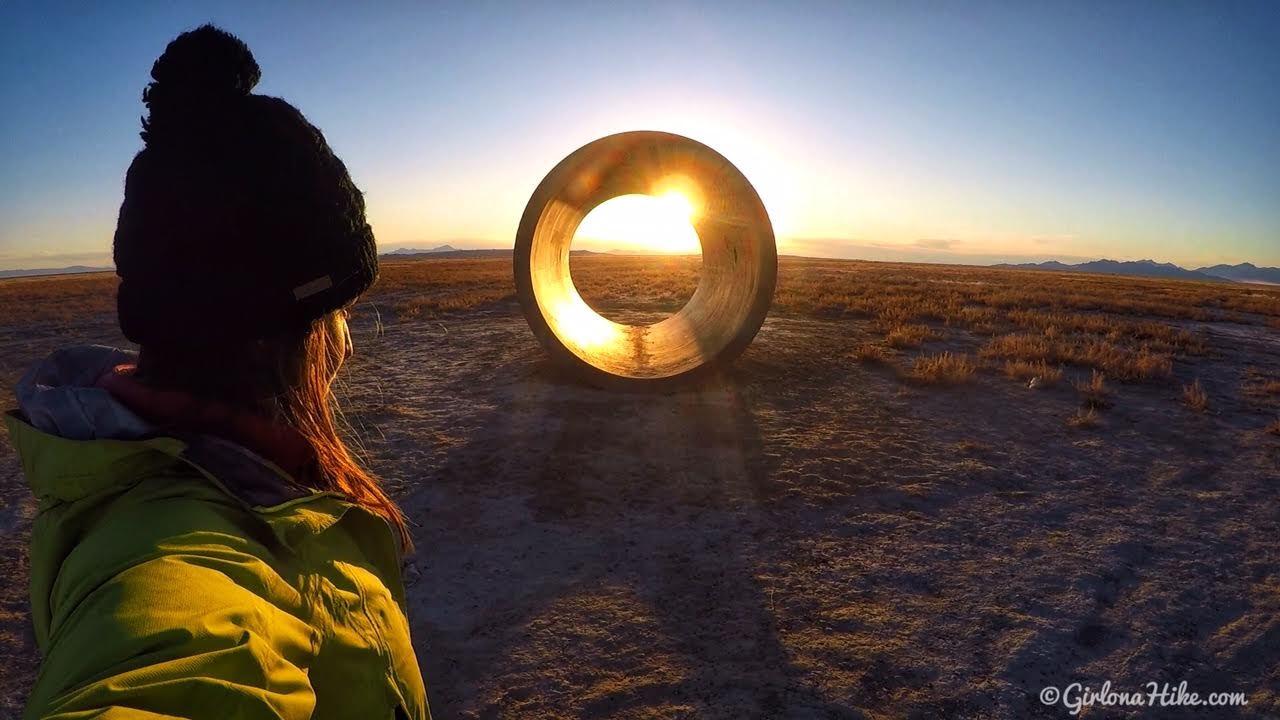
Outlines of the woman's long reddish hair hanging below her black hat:
[[138,379],[218,398],[292,425],[316,455],[314,489],[333,491],[384,518],[406,551],[412,547],[399,506],[366,468],[364,448],[333,392],[338,369],[351,352],[344,332],[349,305],[307,328],[247,343],[143,346]]

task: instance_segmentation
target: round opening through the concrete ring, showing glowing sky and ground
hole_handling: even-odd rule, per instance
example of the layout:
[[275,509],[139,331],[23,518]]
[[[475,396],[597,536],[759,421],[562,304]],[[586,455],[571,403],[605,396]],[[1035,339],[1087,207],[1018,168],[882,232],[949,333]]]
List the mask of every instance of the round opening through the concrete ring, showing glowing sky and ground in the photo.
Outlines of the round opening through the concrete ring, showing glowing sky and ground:
[[695,211],[678,192],[621,195],[595,206],[570,245],[570,275],[582,301],[623,325],[678,313],[703,270]]

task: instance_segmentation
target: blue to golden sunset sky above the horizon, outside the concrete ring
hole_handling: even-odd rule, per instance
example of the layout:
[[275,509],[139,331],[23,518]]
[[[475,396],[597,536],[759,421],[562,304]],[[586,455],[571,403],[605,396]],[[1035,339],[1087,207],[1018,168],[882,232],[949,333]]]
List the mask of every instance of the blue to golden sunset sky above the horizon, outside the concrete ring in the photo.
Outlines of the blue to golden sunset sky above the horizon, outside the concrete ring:
[[511,247],[563,156],[662,129],[785,254],[1280,266],[1280,3],[0,0],[0,269],[109,264],[151,64],[205,22],[384,251]]

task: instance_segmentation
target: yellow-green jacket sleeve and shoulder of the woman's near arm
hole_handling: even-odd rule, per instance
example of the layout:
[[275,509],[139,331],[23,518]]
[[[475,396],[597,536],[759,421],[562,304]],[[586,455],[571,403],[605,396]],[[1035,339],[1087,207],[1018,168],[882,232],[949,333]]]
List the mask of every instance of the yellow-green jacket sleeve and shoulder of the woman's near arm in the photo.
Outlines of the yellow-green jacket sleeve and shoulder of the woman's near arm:
[[297,591],[241,509],[198,479],[161,480],[115,498],[58,568],[28,714],[310,716],[316,633]]

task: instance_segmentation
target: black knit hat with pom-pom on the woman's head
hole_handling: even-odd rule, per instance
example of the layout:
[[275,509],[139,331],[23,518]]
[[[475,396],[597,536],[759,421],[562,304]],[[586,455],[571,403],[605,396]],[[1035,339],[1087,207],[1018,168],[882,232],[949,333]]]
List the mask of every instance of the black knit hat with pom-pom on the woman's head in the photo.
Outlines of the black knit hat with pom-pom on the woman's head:
[[120,329],[138,345],[301,331],[366,291],[365,200],[324,135],[280,100],[237,37],[179,35],[142,92],[142,151],[115,228]]

